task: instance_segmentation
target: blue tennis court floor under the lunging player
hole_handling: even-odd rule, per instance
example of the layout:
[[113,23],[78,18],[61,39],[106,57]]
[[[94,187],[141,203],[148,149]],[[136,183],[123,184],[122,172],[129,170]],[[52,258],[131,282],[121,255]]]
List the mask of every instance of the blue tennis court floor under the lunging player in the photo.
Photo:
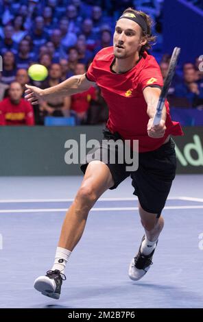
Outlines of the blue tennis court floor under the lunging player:
[[143,236],[128,179],[88,216],[60,299],[33,288],[51,268],[64,214],[82,177],[0,178],[1,308],[200,308],[202,175],[177,175],[154,264],[139,282],[128,266]]

